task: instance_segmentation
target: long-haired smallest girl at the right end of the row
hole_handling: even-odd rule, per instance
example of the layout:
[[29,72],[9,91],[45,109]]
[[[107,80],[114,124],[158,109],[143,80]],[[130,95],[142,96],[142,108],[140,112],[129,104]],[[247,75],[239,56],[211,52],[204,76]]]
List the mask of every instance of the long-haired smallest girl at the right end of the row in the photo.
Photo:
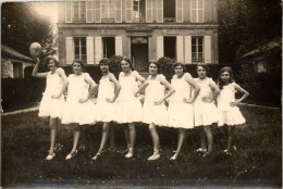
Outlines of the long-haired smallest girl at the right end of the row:
[[[224,153],[231,154],[234,126],[245,123],[245,118],[238,109],[238,103],[248,97],[248,92],[234,83],[231,67],[223,67],[219,72],[218,86],[220,93],[218,97],[218,126],[227,125],[227,148]],[[243,93],[241,99],[235,99],[236,92]]]

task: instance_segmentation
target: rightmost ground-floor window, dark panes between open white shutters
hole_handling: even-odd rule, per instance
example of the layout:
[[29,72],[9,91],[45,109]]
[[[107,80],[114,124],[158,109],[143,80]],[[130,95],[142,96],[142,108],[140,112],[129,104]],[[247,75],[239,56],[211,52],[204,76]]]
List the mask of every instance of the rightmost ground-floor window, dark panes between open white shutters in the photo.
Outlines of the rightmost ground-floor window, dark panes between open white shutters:
[[202,63],[204,60],[204,37],[192,37],[193,63]]

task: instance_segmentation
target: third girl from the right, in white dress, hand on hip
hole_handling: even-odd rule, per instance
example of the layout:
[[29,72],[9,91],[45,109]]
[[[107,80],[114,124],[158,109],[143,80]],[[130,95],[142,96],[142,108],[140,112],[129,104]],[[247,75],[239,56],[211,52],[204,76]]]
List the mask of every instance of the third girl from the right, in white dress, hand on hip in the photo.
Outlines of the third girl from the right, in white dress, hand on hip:
[[[174,64],[175,75],[171,84],[175,93],[169,99],[169,126],[179,128],[177,149],[170,160],[176,160],[182,144],[186,137],[186,129],[194,128],[194,108],[199,86],[193,79],[190,74],[186,73],[186,67],[182,63]],[[192,87],[195,92],[192,92]]]

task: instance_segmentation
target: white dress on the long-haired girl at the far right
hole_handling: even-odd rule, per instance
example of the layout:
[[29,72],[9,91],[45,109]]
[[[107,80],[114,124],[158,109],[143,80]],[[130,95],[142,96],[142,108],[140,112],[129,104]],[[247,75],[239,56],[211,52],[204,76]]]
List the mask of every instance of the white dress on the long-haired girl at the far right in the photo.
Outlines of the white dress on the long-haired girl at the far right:
[[235,101],[235,83],[231,83],[227,86],[223,86],[218,97],[218,126],[226,125],[239,125],[246,121],[243,117],[237,106],[231,106],[230,103]]

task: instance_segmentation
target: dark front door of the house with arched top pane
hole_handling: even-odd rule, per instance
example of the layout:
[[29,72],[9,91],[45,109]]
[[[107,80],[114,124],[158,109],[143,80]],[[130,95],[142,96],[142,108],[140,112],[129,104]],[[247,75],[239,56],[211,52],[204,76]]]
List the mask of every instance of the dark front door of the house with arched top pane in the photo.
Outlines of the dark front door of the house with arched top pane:
[[131,42],[132,61],[138,72],[148,72],[148,42],[147,37],[133,37]]

